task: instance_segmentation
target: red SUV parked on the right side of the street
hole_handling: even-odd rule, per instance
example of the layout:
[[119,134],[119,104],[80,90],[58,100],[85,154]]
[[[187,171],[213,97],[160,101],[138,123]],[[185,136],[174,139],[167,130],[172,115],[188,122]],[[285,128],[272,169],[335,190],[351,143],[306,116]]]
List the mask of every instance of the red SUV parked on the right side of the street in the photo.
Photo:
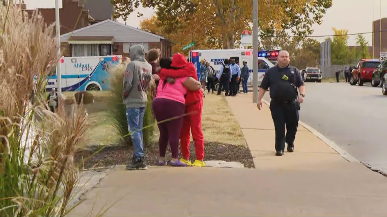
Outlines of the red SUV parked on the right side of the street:
[[363,86],[364,82],[371,82],[373,71],[379,66],[379,59],[362,59],[352,70],[352,76],[349,79],[351,85]]

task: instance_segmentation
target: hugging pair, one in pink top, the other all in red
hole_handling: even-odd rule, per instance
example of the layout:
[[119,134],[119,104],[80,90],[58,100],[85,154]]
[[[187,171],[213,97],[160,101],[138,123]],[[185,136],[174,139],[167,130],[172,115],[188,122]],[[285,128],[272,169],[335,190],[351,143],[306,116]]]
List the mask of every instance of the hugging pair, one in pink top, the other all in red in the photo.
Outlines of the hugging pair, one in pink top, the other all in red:
[[[171,166],[203,167],[204,137],[202,131],[203,91],[195,66],[177,53],[171,59],[160,60],[161,70],[157,94],[152,102],[154,116],[160,131],[158,141],[159,166],[167,166],[165,152],[171,147]],[[192,163],[189,152],[190,132],[195,142],[196,160]],[[179,156],[179,139],[182,158]]]

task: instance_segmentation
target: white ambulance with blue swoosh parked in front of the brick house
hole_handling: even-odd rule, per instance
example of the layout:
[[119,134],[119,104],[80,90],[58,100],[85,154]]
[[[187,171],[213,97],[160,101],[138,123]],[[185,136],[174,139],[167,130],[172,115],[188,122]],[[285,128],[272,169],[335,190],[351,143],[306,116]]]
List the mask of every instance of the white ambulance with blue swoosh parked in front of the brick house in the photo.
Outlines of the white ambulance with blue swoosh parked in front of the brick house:
[[[121,55],[61,57],[62,91],[109,90],[109,69],[120,63]],[[56,70],[47,79],[47,91],[58,88]]]

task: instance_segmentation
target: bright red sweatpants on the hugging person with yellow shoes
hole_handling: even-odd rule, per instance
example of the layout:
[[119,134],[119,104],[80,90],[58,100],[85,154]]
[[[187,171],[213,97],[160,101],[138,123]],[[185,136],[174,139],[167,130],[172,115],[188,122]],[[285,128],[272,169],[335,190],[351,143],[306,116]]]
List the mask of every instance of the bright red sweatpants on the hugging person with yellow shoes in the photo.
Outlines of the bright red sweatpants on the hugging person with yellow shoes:
[[191,106],[187,106],[186,113],[192,113],[184,116],[183,128],[180,133],[181,154],[184,159],[189,159],[190,132],[192,132],[193,142],[195,142],[196,159],[204,159],[204,136],[202,131],[202,110],[203,100]]

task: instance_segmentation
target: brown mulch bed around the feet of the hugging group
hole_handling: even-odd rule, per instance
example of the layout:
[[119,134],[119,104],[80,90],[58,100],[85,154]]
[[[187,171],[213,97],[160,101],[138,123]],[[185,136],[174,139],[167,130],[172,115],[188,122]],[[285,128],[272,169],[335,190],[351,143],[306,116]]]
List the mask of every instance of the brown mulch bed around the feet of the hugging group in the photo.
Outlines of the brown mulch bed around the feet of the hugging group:
[[[92,153],[100,150],[94,154],[90,159],[85,161],[82,165],[81,157],[84,159],[91,156]],[[144,148],[147,155],[146,162],[149,166],[155,166],[158,161],[158,145],[148,145]],[[227,162],[239,162],[247,168],[254,168],[253,157],[250,149],[245,146],[236,146],[231,144],[222,144],[215,142],[206,142],[204,146],[205,161],[219,160]],[[191,160],[196,159],[195,145],[191,142],[190,145]],[[122,145],[105,145],[105,146],[89,146],[87,149],[83,149],[76,154],[76,162],[80,164],[82,169],[96,168],[96,167],[108,167],[114,165],[128,164],[133,155],[133,148]],[[170,159],[171,152],[168,147],[167,159]]]

